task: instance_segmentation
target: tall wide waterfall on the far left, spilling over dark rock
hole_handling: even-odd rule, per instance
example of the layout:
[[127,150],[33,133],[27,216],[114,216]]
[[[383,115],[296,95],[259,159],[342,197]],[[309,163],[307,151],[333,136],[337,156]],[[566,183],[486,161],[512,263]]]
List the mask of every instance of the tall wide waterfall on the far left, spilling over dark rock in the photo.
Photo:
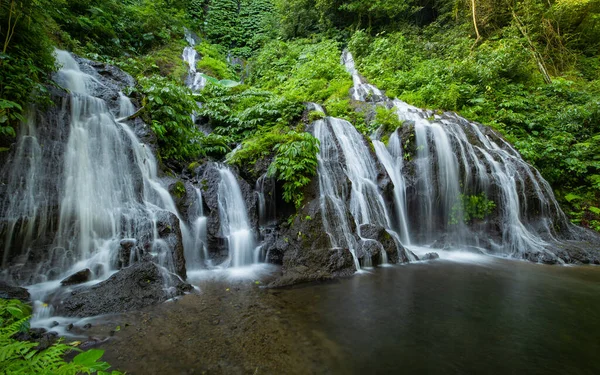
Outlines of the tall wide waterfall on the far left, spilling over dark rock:
[[[106,102],[94,96],[105,90],[99,79],[84,73],[68,52],[57,50],[56,57],[61,66],[56,80],[70,92],[58,125],[50,130],[39,127],[32,115],[5,169],[10,176],[8,202],[0,206],[0,218],[9,223],[5,277],[35,283],[89,268],[94,277],[105,278],[119,267],[122,239],[147,243],[160,264],[175,272],[174,245],[160,238],[157,222],[179,216],[157,178],[154,156],[125,123],[115,120]],[[118,103],[120,117],[135,110],[122,93]],[[60,139],[42,147],[40,129],[54,131],[54,138]],[[44,136],[45,142],[54,138]],[[189,231],[180,220],[179,225],[185,242]],[[48,237],[52,238],[44,242]],[[17,257],[7,269],[11,254]],[[31,277],[20,270],[31,271]]]

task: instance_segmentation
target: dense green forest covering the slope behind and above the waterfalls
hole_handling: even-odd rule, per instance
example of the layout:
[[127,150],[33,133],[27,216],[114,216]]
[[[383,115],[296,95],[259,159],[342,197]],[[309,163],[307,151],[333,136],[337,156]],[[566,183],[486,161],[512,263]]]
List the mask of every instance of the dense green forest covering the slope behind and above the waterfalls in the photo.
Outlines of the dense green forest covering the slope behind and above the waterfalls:
[[[186,29],[210,82],[197,94],[184,84]],[[500,131],[573,222],[600,230],[600,0],[0,0],[0,152],[31,105],[51,104],[55,47],[137,79],[127,94],[163,163],[223,159],[242,143],[227,162],[275,156],[269,171],[296,206],[318,147],[304,102],[365,134],[400,125],[356,111],[348,48],[388,96]]]

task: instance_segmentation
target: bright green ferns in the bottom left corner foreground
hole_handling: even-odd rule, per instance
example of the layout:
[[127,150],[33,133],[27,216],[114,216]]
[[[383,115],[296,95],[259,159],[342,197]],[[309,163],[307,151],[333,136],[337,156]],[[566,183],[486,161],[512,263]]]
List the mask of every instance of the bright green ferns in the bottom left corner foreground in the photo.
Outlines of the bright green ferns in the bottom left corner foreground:
[[[18,341],[13,338],[19,332],[29,330],[31,307],[18,300],[0,299],[0,374],[53,374],[53,375],[120,375],[121,372],[106,372],[110,365],[99,362],[104,350],[91,349],[86,352],[57,342],[44,350],[38,343]],[[81,352],[71,362],[64,356],[72,351]]]

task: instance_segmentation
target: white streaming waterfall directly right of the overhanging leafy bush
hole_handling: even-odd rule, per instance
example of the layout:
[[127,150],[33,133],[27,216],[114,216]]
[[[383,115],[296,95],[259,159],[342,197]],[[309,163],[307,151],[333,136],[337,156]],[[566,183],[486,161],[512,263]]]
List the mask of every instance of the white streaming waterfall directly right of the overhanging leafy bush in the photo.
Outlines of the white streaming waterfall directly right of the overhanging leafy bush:
[[[345,120],[327,117],[316,121],[314,136],[320,141],[317,161],[325,231],[333,248],[350,250],[359,270],[361,246],[364,242],[373,241],[361,236],[361,225],[381,226],[398,239],[391,230],[386,204],[377,186],[375,161],[365,139]],[[354,220],[360,242],[354,236],[348,212]],[[381,252],[382,263],[387,261],[385,253]],[[363,265],[371,266],[370,257],[363,257]]]

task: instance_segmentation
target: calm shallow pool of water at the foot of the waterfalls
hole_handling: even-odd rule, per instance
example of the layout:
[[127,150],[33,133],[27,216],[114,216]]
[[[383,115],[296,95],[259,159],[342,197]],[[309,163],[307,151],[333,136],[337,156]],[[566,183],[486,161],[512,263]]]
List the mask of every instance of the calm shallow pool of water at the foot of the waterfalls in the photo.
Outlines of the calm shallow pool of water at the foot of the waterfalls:
[[130,374],[600,373],[600,267],[440,256],[279,290],[193,275],[101,346]]

